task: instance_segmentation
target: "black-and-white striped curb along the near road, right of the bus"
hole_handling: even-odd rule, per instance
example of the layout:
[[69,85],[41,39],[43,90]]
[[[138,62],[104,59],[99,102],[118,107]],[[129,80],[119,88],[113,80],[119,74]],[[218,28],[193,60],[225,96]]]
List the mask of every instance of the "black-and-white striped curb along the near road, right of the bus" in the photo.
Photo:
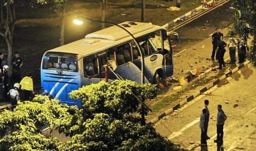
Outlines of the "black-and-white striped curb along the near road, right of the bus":
[[[149,121],[149,123],[156,123],[157,121],[159,121],[160,119],[162,119],[163,117],[165,117],[166,115],[170,114],[171,112],[177,110],[178,108],[180,108],[181,106],[183,106],[184,104],[186,104],[187,102],[192,101],[194,98],[198,97],[199,95],[201,95],[203,92],[213,88],[213,86],[215,86],[217,83],[221,82],[221,80],[224,80],[225,78],[227,78],[229,75],[239,71],[242,67],[248,65],[249,61],[243,62],[241,64],[239,64],[239,66],[237,66],[236,68],[233,68],[231,71],[228,71],[226,73],[224,73],[224,75],[222,75],[220,78],[216,79],[214,82],[206,85],[204,88],[202,88],[201,90],[195,92],[193,95],[188,96],[187,98],[185,98],[184,100],[182,100],[181,102],[179,102],[178,104],[176,104],[175,106],[173,106],[172,108],[167,109],[167,111],[165,111],[164,113],[160,114],[158,117],[152,119]],[[216,68],[216,67],[214,67]],[[213,69],[213,68],[211,68]],[[210,70],[211,70],[210,69]],[[208,70],[209,72],[209,70]],[[202,73],[205,74],[206,72]]]

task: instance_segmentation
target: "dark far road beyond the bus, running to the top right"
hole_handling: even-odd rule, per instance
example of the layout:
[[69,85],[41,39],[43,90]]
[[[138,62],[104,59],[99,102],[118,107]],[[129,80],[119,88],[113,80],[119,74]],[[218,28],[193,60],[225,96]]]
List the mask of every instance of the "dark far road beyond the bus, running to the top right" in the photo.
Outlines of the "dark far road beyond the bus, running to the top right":
[[235,10],[230,7],[231,1],[175,30],[179,34],[180,40],[175,50],[181,51],[200,43],[201,40],[215,32],[217,27],[223,29],[230,26],[235,19]]

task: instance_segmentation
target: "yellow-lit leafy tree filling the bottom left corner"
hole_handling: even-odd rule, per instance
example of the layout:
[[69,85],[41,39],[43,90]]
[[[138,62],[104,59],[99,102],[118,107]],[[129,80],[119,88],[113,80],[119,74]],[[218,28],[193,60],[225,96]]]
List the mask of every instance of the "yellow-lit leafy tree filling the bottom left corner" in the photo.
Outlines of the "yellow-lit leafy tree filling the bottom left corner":
[[45,125],[53,127],[58,121],[72,117],[68,106],[61,106],[58,100],[37,97],[37,101],[19,103],[14,112],[0,114],[0,150],[57,150],[56,138],[43,135]]

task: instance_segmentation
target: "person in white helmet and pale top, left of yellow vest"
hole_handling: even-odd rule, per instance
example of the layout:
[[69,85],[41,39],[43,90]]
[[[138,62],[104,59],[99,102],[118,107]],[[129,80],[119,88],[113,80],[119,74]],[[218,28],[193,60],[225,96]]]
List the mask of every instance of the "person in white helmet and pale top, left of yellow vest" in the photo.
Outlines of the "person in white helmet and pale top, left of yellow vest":
[[10,98],[10,103],[12,104],[12,111],[17,106],[17,102],[20,101],[20,94],[19,94],[19,83],[15,83],[13,89],[10,89],[8,92],[8,96]]

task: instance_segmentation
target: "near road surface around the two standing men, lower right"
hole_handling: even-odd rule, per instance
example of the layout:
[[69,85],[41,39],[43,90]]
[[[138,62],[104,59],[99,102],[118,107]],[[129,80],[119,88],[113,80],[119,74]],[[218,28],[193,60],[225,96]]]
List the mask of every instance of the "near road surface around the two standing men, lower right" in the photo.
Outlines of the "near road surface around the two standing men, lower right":
[[[227,115],[224,125],[224,150],[255,150],[256,145],[256,69],[250,64],[228,77],[177,112],[158,121],[156,131],[181,147],[192,150],[216,150],[217,105]],[[209,100],[208,146],[201,148],[199,117],[204,100]],[[237,107],[234,105],[237,104]]]

